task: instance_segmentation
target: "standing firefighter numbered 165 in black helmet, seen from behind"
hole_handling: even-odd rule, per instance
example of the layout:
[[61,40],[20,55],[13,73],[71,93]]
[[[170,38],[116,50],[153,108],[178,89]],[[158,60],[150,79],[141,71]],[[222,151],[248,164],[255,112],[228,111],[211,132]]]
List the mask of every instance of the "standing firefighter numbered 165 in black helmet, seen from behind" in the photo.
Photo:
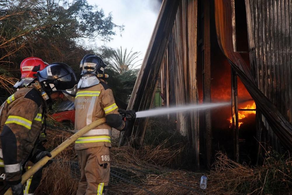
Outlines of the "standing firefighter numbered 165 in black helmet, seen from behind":
[[[103,60],[93,54],[84,56],[80,63],[81,79],[75,99],[75,130],[105,117],[106,123],[88,131],[75,141],[81,179],[77,195],[105,195],[108,191],[112,127],[123,131],[123,121],[114,101],[112,90],[104,77]],[[134,111],[126,111],[135,117]]]

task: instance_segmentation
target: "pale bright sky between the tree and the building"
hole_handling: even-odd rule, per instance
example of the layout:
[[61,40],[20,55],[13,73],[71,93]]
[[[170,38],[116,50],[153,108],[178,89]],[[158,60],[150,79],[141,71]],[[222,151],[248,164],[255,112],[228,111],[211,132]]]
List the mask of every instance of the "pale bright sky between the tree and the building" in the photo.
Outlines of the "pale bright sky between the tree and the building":
[[133,47],[133,51],[140,51],[144,57],[154,28],[161,3],[159,0],[87,0],[89,4],[96,4],[102,8],[105,15],[112,12],[113,22],[124,25],[125,29],[120,36],[116,30],[111,42],[95,40],[98,46],[105,44],[117,48]]

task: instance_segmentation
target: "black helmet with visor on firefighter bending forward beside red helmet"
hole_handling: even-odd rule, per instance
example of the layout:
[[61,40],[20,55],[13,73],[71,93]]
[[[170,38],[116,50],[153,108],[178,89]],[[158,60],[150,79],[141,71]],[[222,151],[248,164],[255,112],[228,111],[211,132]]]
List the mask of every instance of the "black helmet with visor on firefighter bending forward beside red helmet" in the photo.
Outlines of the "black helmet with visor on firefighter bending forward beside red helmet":
[[37,72],[37,79],[48,95],[53,92],[63,92],[70,96],[76,94],[76,75],[74,70],[65,63],[51,63],[44,70]]

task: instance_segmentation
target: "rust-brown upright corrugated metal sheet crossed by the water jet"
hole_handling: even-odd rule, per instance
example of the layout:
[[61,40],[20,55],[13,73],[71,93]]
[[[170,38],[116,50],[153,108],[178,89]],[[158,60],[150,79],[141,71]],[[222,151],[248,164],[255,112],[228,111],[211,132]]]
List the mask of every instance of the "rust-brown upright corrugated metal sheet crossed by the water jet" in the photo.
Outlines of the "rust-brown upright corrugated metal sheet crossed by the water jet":
[[[197,1],[180,1],[161,70],[165,106],[198,103]],[[197,112],[177,113],[177,130],[187,135],[199,159]],[[199,165],[199,161],[197,161]]]

